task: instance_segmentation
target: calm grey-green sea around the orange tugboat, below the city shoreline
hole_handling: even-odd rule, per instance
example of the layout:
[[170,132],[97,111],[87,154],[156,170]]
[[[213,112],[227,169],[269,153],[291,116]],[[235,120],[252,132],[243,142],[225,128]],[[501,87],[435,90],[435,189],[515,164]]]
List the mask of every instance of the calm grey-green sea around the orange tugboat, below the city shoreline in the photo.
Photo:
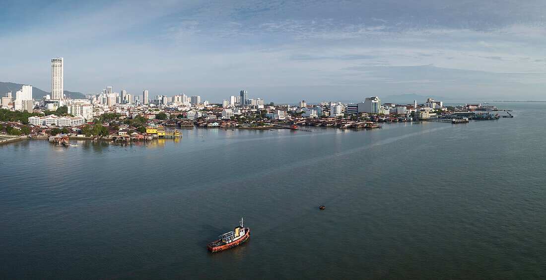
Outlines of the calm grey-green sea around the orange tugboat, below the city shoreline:
[[546,278],[546,103],[495,105],[515,117],[2,145],[0,278]]

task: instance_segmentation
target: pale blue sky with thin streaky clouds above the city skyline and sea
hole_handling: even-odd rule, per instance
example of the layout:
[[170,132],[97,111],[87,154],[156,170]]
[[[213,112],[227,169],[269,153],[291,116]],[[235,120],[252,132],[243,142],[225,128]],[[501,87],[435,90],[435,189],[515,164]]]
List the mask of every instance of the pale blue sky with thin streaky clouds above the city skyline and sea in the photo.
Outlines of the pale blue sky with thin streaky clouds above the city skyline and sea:
[[[545,1],[0,1],[0,81],[221,102],[546,100]],[[388,102],[388,100],[385,100]]]

